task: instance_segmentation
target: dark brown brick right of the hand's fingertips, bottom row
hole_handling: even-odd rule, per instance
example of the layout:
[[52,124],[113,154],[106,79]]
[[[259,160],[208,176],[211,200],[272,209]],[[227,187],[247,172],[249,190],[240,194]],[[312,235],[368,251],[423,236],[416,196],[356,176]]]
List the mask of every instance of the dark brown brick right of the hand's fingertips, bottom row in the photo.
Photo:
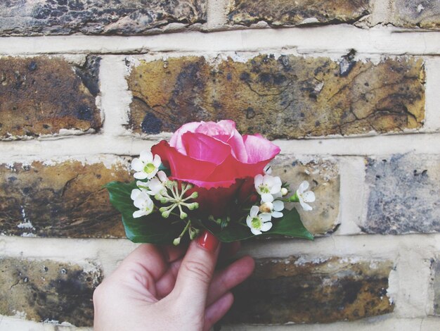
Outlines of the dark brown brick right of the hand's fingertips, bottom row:
[[331,323],[390,313],[392,261],[266,258],[235,291],[229,323]]

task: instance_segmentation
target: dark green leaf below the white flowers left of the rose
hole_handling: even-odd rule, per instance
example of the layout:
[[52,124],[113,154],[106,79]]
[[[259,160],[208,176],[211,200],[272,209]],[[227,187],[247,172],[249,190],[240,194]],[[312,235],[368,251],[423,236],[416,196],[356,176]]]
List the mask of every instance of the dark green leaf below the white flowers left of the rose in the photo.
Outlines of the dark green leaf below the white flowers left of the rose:
[[122,214],[125,234],[132,242],[150,244],[171,244],[183,230],[183,222],[173,223],[175,218],[162,218],[159,213],[151,213],[141,218],[133,218],[136,207],[131,200],[131,190],[136,182],[109,182],[105,185],[110,195],[110,203]]

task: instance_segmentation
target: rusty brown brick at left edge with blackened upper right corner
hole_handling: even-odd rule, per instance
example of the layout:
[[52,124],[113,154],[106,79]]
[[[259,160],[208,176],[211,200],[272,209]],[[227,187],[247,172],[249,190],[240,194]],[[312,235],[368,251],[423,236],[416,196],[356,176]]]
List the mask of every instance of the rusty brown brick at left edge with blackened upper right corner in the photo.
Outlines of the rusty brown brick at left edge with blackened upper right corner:
[[89,56],[75,67],[63,58],[0,58],[0,139],[98,130],[99,61]]

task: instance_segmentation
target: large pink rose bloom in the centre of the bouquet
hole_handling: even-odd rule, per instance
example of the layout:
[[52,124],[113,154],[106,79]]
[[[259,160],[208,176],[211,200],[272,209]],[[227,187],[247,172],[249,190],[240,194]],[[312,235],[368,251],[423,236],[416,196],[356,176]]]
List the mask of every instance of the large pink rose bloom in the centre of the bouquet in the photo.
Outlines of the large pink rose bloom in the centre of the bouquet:
[[221,120],[187,123],[169,143],[162,140],[151,151],[171,170],[172,179],[195,185],[203,211],[219,216],[242,183],[263,173],[280,148],[258,134],[242,137],[233,120]]

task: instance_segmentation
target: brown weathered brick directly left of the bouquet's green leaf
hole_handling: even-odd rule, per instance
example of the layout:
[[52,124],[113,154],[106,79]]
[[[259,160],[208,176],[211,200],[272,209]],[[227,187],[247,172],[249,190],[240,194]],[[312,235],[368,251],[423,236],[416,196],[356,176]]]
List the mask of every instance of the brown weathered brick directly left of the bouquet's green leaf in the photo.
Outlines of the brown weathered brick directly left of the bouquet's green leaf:
[[130,181],[127,165],[0,165],[0,233],[25,237],[124,237],[103,185]]

